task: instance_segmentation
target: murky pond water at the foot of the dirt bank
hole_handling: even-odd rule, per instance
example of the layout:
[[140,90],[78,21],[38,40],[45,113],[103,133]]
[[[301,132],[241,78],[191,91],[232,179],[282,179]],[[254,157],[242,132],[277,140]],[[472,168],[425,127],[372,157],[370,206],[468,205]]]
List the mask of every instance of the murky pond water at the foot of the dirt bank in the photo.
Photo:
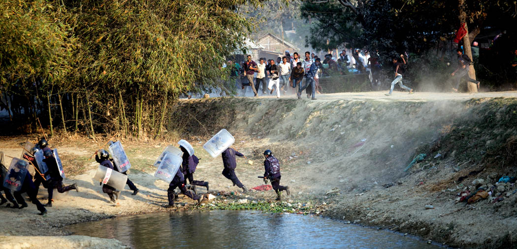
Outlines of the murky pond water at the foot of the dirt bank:
[[436,248],[386,230],[327,218],[256,211],[154,213],[67,226],[132,248]]

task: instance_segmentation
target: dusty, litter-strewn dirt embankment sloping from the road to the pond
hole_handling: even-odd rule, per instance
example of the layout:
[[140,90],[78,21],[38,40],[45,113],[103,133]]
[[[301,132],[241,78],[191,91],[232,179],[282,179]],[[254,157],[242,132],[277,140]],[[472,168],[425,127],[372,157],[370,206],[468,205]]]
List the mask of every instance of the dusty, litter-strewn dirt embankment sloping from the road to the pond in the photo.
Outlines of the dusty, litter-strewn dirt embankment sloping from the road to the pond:
[[[196,178],[210,181],[211,190],[237,190],[221,175],[221,159],[202,149],[206,139],[226,128],[236,138],[234,147],[253,161],[238,159],[237,176],[248,187],[261,185],[256,176],[263,173],[261,154],[269,148],[281,160],[282,184],[294,190],[290,198],[326,202],[324,215],[452,246],[504,247],[517,241],[516,188],[496,185],[499,177],[516,174],[517,99],[217,98],[181,101],[173,109],[169,123],[176,125],[169,132],[194,145],[202,158]],[[21,154],[25,138],[2,140],[0,151]],[[95,143],[51,141],[68,170],[80,173],[70,174],[65,184],[78,182],[81,192],[56,197],[46,217],[38,217],[31,204],[23,210],[0,208],[2,217],[17,224],[4,235],[63,235],[66,224],[168,210],[160,206],[167,201],[168,183],[154,178],[154,168],[146,163],[175,142],[123,140],[132,163],[129,178],[141,193],[124,191],[112,206],[91,179],[97,166],[87,158],[97,149]],[[425,160],[403,172],[420,153],[427,154]],[[458,193],[475,194],[480,187],[492,191],[491,196],[469,205],[456,202]],[[250,195],[274,197],[272,191]],[[45,191],[38,197],[44,199]],[[192,203],[180,200],[185,202]]]

